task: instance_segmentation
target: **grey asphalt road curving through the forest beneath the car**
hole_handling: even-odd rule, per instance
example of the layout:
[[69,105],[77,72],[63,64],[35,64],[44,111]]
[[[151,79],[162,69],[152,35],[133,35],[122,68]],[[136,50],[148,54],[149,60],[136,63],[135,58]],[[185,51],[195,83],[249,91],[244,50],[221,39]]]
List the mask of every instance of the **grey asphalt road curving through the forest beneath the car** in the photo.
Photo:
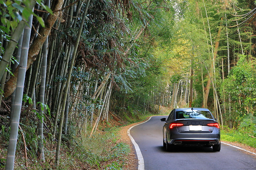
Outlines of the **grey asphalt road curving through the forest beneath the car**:
[[164,117],[152,117],[130,130],[145,170],[256,170],[256,155],[223,143],[220,152],[213,152],[212,147],[177,147],[166,152],[162,146],[164,122],[160,121]]

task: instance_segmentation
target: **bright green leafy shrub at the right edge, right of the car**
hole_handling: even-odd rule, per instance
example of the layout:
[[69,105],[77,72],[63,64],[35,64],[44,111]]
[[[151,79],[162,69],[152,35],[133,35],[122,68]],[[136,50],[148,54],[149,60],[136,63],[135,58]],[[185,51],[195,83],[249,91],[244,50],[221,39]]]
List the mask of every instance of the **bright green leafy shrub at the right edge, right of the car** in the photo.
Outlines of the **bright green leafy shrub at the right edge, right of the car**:
[[[236,66],[232,67],[228,78],[222,83],[221,94],[228,100],[231,95],[233,110],[233,121],[238,125],[244,121],[246,115],[254,116],[256,109],[256,74],[255,61],[248,62],[247,56],[239,55]],[[227,118],[228,115],[224,115]]]

